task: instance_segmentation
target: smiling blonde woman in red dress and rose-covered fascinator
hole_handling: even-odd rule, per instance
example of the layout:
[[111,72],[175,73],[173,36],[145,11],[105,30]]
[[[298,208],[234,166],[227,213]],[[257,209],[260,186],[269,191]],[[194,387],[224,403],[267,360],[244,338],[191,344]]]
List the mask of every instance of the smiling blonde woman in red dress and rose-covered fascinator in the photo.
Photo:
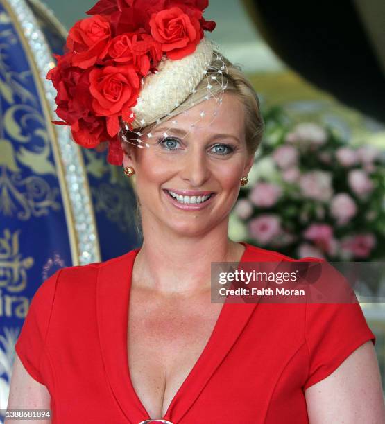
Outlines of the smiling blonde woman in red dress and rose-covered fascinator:
[[[128,25],[135,2],[128,3],[127,10],[110,8],[103,15],[99,2],[93,10],[102,16],[99,44],[82,50],[89,38],[80,37],[75,26],[67,46],[76,59],[60,59],[50,77],[68,88],[72,77],[66,74],[65,80],[65,70],[86,69],[87,83],[82,87],[85,74],[76,71],[77,84],[66,96],[57,84],[58,115],[78,143],[92,147],[96,138],[110,136],[109,160],[123,163],[128,177],[135,174],[144,242],[118,258],[67,267],[44,281],[17,341],[8,409],[51,408],[54,423],[384,423],[375,336],[357,303],[211,302],[213,262],[294,261],[228,238],[229,213],[261,139],[257,96],[241,71],[215,51],[210,67],[203,66],[204,78],[199,66],[191,66],[205,43],[191,30],[194,19],[200,28],[212,28],[201,15],[204,1],[178,3],[179,10],[158,5],[155,12],[152,2],[146,17],[142,1],[140,19],[149,24],[141,28],[150,28],[171,69],[144,71],[143,101],[132,101],[135,77],[130,93],[124,91],[128,69],[105,79],[119,65],[111,64],[117,58],[110,51],[113,39],[107,37],[104,45],[100,36],[107,22],[114,30]],[[193,53],[180,33],[172,39],[177,24],[187,25],[182,33],[195,40]],[[171,40],[162,43],[166,35]],[[186,64],[178,55],[187,46],[182,55],[192,62]],[[112,69],[102,69],[92,51],[99,60],[107,57]],[[200,77],[187,96],[180,91],[192,68]],[[225,83],[207,88],[207,78],[219,71]],[[178,83],[170,89],[165,80]],[[143,106],[148,85],[151,103]],[[166,105],[157,92],[164,87],[167,99],[176,96]],[[89,90],[91,106],[76,103],[76,89]],[[113,139],[118,118],[121,153]],[[139,148],[144,145],[148,148]]]

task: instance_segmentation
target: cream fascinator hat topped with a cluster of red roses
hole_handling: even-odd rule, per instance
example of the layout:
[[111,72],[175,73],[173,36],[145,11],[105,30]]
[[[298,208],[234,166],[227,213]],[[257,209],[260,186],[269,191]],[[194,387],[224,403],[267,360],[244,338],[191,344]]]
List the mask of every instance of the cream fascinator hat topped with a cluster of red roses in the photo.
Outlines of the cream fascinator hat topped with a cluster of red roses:
[[[132,143],[126,134],[133,133],[135,145],[148,147],[141,128],[171,116],[204,78],[203,98],[220,104],[227,73],[223,60],[208,73],[213,54],[221,56],[204,36],[215,28],[203,18],[207,6],[208,0],[96,3],[90,17],[69,30],[66,52],[55,56],[58,64],[47,75],[62,119],[54,123],[70,125],[74,141],[85,148],[107,142],[108,162],[121,165],[121,139]],[[219,96],[214,84],[220,85]]]

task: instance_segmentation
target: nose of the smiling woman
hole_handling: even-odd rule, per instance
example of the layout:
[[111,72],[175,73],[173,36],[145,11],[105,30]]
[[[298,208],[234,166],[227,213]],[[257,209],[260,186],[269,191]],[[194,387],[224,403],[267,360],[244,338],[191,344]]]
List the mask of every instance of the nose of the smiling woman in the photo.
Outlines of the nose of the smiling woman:
[[191,187],[200,187],[210,176],[209,164],[205,152],[191,149],[185,156],[181,171],[182,179]]

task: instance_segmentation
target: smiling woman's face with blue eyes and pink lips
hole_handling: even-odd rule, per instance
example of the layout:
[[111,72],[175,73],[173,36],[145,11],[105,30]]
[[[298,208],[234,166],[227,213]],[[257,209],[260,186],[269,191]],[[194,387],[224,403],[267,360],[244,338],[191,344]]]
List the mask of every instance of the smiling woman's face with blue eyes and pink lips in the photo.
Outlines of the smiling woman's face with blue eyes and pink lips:
[[142,136],[150,148],[122,142],[123,166],[135,169],[143,224],[156,220],[197,236],[228,217],[253,157],[246,148],[244,109],[238,98],[224,94],[213,120],[214,109],[214,99],[206,100],[157,125],[151,138]]

